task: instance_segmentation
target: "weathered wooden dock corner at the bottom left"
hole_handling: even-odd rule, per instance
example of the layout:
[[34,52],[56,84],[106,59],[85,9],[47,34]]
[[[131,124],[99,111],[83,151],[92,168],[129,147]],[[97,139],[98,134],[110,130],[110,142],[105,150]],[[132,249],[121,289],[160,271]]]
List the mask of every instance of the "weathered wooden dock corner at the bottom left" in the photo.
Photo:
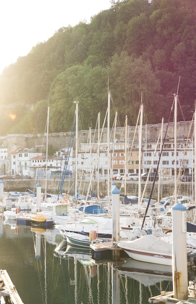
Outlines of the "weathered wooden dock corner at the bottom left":
[[0,303],[8,303],[6,298],[9,298],[11,304],[23,304],[7,271],[0,270]]

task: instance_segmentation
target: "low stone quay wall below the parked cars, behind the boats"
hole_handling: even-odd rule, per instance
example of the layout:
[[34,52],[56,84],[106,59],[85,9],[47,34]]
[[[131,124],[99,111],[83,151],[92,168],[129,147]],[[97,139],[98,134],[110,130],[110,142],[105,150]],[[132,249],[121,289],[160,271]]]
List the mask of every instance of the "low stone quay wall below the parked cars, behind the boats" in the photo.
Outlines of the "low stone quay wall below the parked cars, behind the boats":
[[[9,192],[9,191],[28,191],[28,189],[36,192],[36,184],[40,183],[42,185],[42,192],[45,192],[45,180],[33,180],[33,179],[5,179],[4,180],[4,191]],[[52,194],[58,194],[59,187],[61,184],[61,180],[55,180],[51,179],[47,181],[47,192],[52,193]],[[141,182],[141,190],[143,193],[144,189],[144,182]],[[121,181],[116,182],[117,188],[121,191],[121,195],[125,194],[125,188],[123,186],[123,183]],[[79,193],[80,194],[87,194],[89,187],[89,182],[85,180],[80,181],[80,185],[78,186]],[[181,183],[179,189],[179,193],[181,195],[192,195],[192,183]],[[152,182],[149,182],[149,184],[146,187],[144,197],[148,198],[151,192],[152,188]],[[107,196],[107,181],[101,180],[99,182],[99,189],[100,193],[102,193],[104,196]],[[92,191],[96,193],[97,191],[97,181],[92,181]],[[74,181],[73,180],[65,180],[63,188],[62,188],[62,193],[69,193],[70,195],[74,194]],[[138,182],[135,181],[127,181],[126,182],[126,193],[127,195],[138,195]],[[166,196],[171,196],[174,193],[174,181],[173,180],[168,180],[168,181],[160,181],[160,198],[161,197],[166,197]],[[159,195],[159,185],[158,182],[156,182],[153,194],[152,194],[152,199],[158,200],[158,195]]]

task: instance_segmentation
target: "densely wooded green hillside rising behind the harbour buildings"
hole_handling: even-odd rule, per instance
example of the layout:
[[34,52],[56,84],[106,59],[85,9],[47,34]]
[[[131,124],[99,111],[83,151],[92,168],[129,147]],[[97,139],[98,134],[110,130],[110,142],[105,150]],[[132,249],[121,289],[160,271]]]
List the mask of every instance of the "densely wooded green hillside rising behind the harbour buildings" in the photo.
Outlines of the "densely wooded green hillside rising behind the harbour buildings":
[[[195,0],[111,1],[86,24],[64,27],[0,76],[0,135],[71,131],[79,101],[82,129],[97,115],[135,125],[143,92],[146,123],[168,118],[179,82],[178,120],[191,120],[196,99]],[[36,20],[35,20],[36,22]],[[51,21],[52,22],[52,21]],[[9,37],[8,37],[9,39]],[[14,48],[14,45],[13,45]]]

